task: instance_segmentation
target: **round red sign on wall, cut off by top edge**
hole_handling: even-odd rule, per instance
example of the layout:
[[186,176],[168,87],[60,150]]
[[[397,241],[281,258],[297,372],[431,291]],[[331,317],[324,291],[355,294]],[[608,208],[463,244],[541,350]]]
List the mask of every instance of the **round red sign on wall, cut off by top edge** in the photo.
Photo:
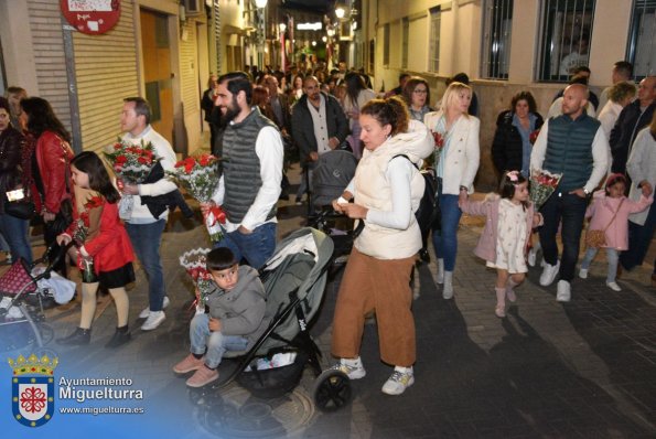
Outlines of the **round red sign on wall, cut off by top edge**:
[[120,19],[120,0],[60,0],[62,14],[79,32],[98,35]]

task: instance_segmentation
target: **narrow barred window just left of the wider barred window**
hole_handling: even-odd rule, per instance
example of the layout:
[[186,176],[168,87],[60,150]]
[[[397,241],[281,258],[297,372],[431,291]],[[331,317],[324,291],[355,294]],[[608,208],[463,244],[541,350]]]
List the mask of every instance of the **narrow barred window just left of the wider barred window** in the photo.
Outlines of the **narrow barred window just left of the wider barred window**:
[[486,0],[484,7],[481,76],[507,79],[510,67],[513,0]]

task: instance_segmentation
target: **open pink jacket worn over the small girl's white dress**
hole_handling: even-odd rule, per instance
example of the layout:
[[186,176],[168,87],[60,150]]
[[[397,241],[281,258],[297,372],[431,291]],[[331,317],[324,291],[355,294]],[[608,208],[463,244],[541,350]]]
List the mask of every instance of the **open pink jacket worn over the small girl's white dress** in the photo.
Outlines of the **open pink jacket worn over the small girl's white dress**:
[[[462,212],[470,215],[478,215],[487,217],[485,222],[485,228],[478,238],[478,244],[474,248],[474,255],[483,258],[490,263],[496,263],[496,231],[498,229],[498,203],[501,196],[497,194],[488,194],[484,201],[470,201],[467,200],[463,205],[460,206]],[[530,232],[534,227],[533,224],[534,207],[533,203],[529,203],[526,210],[526,243],[525,249],[528,248],[530,238]],[[542,218],[540,215],[540,224]]]

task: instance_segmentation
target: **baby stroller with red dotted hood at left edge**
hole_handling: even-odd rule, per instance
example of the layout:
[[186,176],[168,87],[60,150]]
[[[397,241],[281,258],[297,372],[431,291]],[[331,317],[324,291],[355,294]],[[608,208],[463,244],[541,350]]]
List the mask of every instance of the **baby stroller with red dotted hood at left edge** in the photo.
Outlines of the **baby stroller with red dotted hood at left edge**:
[[46,267],[29,266],[21,258],[0,277],[0,350],[13,351],[29,344],[42,347],[52,340],[54,332],[44,323],[44,303],[66,303],[75,292],[75,282],[52,272],[69,245],[57,246],[54,255],[53,248],[41,259]]

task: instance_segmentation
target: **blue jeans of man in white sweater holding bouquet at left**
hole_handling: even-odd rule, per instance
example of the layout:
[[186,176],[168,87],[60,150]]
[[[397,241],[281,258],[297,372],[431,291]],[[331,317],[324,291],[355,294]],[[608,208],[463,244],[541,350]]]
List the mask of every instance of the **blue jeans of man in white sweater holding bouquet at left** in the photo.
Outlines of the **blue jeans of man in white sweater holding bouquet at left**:
[[148,277],[148,300],[151,311],[161,311],[164,302],[164,272],[160,245],[166,222],[164,220],[150,224],[126,223],[126,231],[135,248],[135,253]]

